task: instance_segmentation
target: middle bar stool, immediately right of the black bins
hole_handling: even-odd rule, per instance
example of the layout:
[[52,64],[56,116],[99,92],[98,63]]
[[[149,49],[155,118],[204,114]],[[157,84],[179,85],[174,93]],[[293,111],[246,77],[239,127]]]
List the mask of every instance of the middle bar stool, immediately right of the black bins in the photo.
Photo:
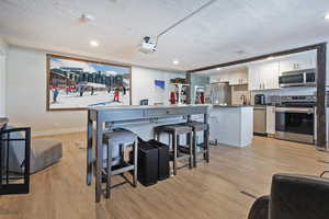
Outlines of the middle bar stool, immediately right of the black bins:
[[[159,140],[160,134],[169,134],[171,136],[173,175],[177,174],[177,161],[189,159],[190,169],[193,168],[193,146],[192,146],[192,127],[185,125],[164,125],[155,127],[155,139]],[[180,135],[186,135],[188,147],[180,146]],[[170,142],[169,142],[170,145]],[[188,152],[186,155],[181,155],[180,151]],[[181,166],[184,168],[185,165]]]

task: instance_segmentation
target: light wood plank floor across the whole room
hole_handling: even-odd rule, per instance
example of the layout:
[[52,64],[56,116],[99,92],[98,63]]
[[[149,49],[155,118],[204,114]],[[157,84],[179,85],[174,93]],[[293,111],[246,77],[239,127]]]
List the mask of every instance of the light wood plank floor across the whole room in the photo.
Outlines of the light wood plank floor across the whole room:
[[241,192],[269,194],[277,172],[329,170],[313,147],[256,137],[243,149],[213,147],[209,164],[183,169],[151,187],[125,184],[113,189],[111,200],[95,204],[94,187],[86,185],[86,134],[54,138],[64,142],[63,160],[32,175],[29,195],[0,197],[0,219],[246,219],[254,199]]

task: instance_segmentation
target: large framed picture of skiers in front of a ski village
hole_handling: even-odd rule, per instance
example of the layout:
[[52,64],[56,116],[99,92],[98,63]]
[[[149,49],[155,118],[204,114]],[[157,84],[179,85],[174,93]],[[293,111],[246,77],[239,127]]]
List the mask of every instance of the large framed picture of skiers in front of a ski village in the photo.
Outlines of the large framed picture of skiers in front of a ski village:
[[131,67],[48,55],[52,110],[131,104]]

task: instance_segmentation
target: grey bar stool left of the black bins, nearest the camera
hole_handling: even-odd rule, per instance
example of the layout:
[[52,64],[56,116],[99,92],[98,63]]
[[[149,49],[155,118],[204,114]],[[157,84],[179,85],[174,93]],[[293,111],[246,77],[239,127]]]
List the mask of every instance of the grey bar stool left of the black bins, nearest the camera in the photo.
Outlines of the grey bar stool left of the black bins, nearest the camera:
[[[133,163],[124,161],[125,146],[133,145]],[[114,129],[103,134],[103,150],[104,152],[104,169],[106,176],[106,193],[105,198],[111,197],[111,176],[123,175],[124,172],[133,172],[133,186],[137,186],[137,151],[138,140],[137,135],[126,129]],[[126,180],[126,178],[125,178]]]

